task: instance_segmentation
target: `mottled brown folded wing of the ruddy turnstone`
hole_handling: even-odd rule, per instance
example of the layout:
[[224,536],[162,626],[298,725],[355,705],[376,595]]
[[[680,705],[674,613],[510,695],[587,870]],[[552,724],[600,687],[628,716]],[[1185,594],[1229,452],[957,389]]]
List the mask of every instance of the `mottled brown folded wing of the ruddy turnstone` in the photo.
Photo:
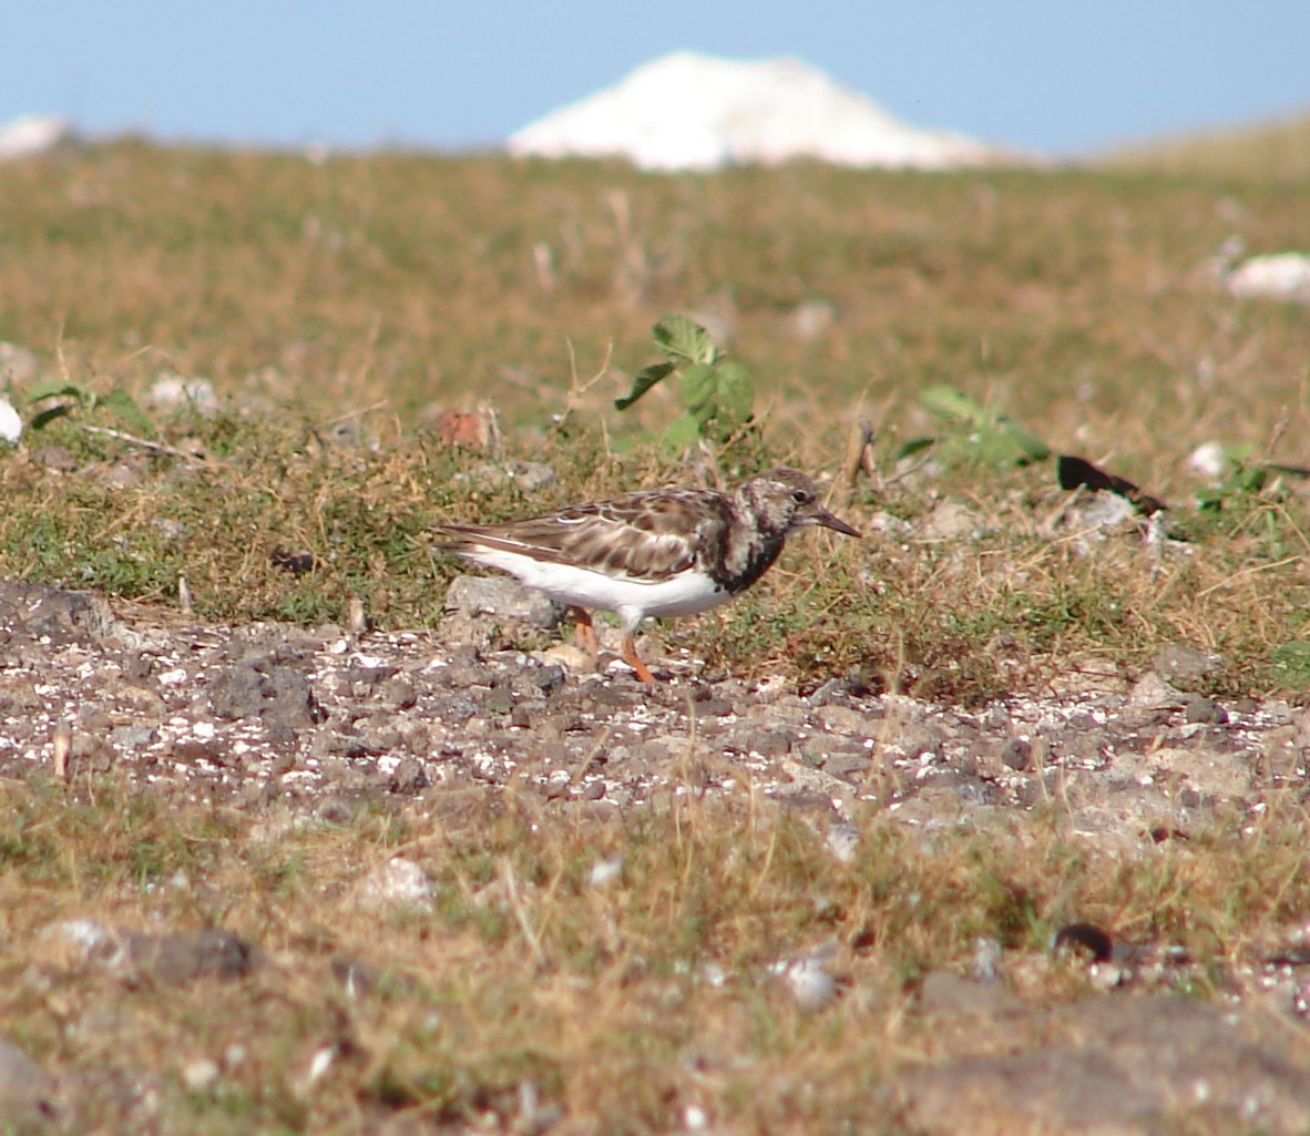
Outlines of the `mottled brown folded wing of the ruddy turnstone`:
[[478,545],[612,575],[660,580],[697,563],[723,541],[728,518],[718,494],[655,490],[580,504],[549,516],[487,525],[440,525],[452,552]]

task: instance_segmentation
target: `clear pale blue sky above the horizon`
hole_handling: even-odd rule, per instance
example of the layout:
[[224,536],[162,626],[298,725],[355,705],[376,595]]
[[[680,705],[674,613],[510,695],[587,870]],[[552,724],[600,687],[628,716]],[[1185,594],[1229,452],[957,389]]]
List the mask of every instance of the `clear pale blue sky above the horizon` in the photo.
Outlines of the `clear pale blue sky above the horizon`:
[[1310,111],[1310,0],[34,0],[0,122],[495,145],[669,51],[793,55],[916,126],[1052,156]]

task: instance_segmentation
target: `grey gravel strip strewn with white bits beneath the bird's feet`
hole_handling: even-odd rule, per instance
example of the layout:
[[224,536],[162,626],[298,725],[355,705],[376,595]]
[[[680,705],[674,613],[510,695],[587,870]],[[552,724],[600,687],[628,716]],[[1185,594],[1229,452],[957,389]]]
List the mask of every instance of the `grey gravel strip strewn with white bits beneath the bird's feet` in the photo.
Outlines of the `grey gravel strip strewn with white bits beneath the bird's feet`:
[[1221,666],[1186,646],[1132,687],[1086,668],[1058,693],[962,710],[840,680],[808,697],[706,683],[677,663],[651,689],[604,655],[599,673],[566,666],[578,662],[567,646],[487,650],[500,628],[479,615],[487,603],[466,603],[438,635],[354,637],[164,625],[88,594],[0,584],[0,773],[52,767],[64,732],[72,772],[113,768],[236,803],[436,798],[514,778],[604,812],[684,791],[694,757],[706,793],[749,784],[833,825],[861,803],[933,828],[1057,799],[1076,832],[1116,843],[1310,790],[1310,714],[1184,693]]

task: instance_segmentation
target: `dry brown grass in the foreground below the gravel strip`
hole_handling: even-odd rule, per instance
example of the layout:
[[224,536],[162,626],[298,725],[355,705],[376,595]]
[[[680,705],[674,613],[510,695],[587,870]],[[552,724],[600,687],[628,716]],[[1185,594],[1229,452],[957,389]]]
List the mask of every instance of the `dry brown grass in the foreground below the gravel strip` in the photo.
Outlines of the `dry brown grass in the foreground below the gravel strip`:
[[[897,1131],[870,1101],[891,1099],[897,1070],[973,1044],[909,1012],[916,979],[967,970],[979,937],[1006,947],[1030,1001],[1090,993],[1045,954],[1076,917],[1184,947],[1203,960],[1187,987],[1208,994],[1310,916],[1303,818],[1277,808],[1132,866],[1073,840],[1058,808],[931,839],[870,815],[845,865],[748,789],[601,825],[567,811],[542,823],[511,793],[455,827],[411,807],[274,822],[271,840],[267,819],[113,785],[93,802],[39,781],[3,793],[0,1005],[10,1036],[75,1089],[60,1131],[147,1115],[177,1132],[512,1127],[532,1123],[532,1094],[562,1132],[669,1131],[689,1108],[728,1131]],[[360,879],[394,854],[435,899],[360,908]],[[591,882],[601,858],[621,863],[608,884]],[[263,963],[238,983],[106,972],[43,937],[83,917],[223,925]],[[806,1013],[772,967],[825,943],[846,993]],[[345,962],[364,976],[354,993]],[[206,1061],[220,1074],[189,1089]],[[148,1107],[123,1093],[143,1078]]]

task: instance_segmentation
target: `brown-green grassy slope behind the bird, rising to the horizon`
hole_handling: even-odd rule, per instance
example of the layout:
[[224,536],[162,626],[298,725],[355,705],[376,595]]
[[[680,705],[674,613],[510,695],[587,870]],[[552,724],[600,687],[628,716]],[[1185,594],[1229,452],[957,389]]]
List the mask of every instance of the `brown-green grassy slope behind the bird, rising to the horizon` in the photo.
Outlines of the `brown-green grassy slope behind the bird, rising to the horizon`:
[[[807,541],[724,629],[680,625],[730,670],[855,668],[971,697],[1040,681],[1072,654],[1132,668],[1182,638],[1227,654],[1230,687],[1262,689],[1277,681],[1273,651],[1305,633],[1296,499],[1235,502],[1193,525],[1196,554],[1162,577],[1132,541],[1099,559],[1052,542],[1047,466],[891,477],[899,448],[938,428],[917,401],[929,383],[1175,502],[1201,487],[1186,457],[1203,442],[1260,455],[1276,439],[1275,457],[1310,464],[1305,309],[1237,303],[1205,269],[1233,233],[1255,250],[1294,246],[1310,232],[1297,185],[803,164],[645,177],[494,156],[313,165],[123,143],[0,168],[0,338],[101,394],[141,397],[179,372],[233,407],[208,423],[156,414],[165,440],[198,436],[203,473],[46,431],[77,463],[135,461],[128,491],[102,468],[4,463],[12,575],[172,603],[185,574],[219,618],[341,618],[358,594],[384,625],[426,624],[452,570],[427,550],[426,524],[681,476],[680,461],[633,449],[673,396],[630,417],[612,398],[652,359],[654,320],[686,311],[730,330],[757,385],[762,452],[727,455],[728,477],[769,460],[831,470],[867,417],[887,480],[845,503],[857,523],[874,510],[913,520],[948,497],[990,531],[965,548]],[[791,314],[814,300],[836,320],[807,339]],[[483,402],[511,455],[559,466],[557,490],[470,494],[452,474],[479,459],[414,432],[424,407]],[[567,436],[550,428],[566,409]],[[325,440],[343,415],[380,451]],[[278,569],[288,548],[312,552],[318,573]],[[819,584],[799,597],[790,573],[804,565]],[[998,643],[1023,666],[1000,675]]]

